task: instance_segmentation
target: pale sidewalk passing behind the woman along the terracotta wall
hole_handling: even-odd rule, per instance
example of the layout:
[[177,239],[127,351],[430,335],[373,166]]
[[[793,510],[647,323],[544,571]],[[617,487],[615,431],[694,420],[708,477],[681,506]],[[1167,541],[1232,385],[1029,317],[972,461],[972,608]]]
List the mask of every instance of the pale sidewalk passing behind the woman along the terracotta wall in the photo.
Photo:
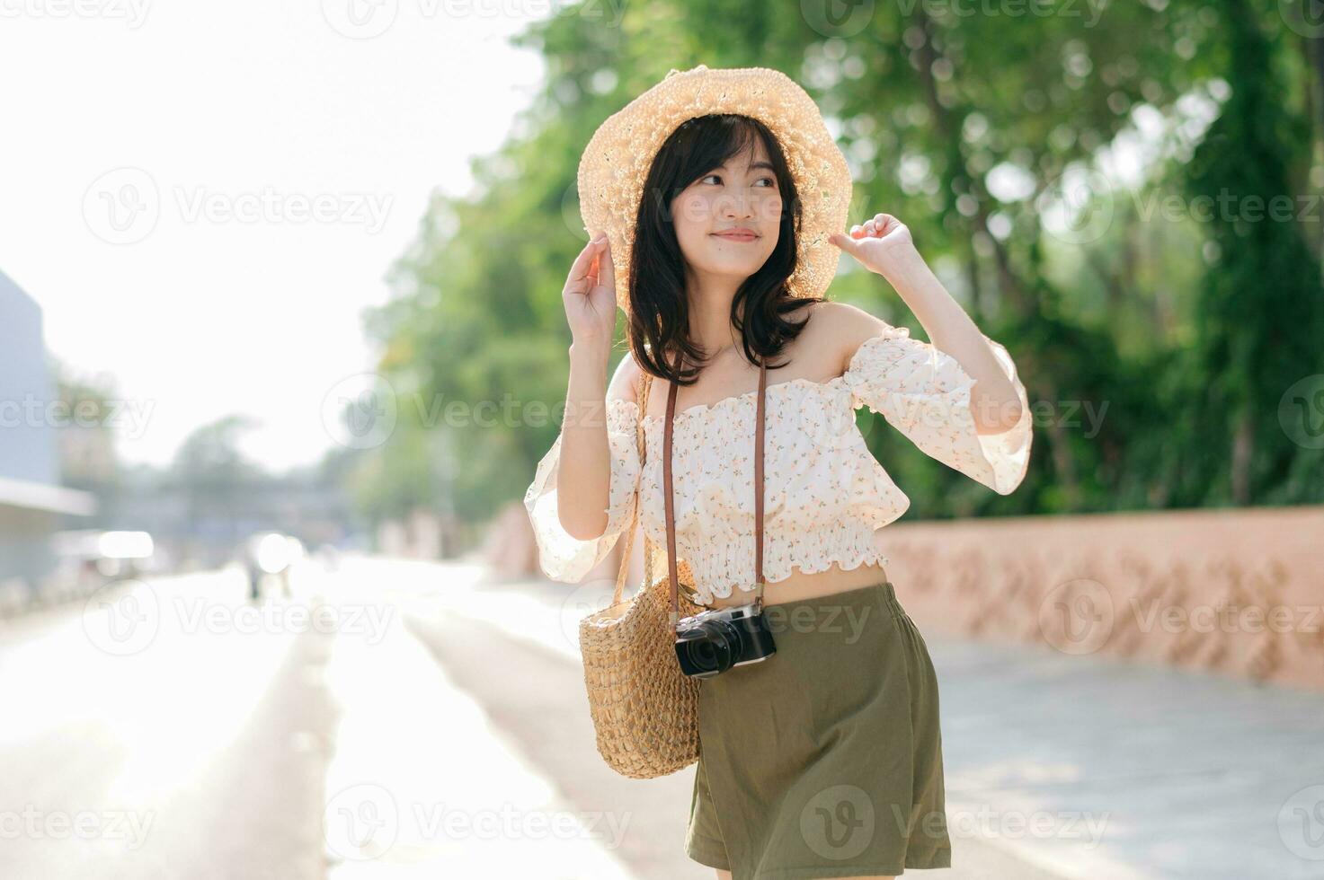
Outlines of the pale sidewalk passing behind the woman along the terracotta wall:
[[[604,589],[473,582],[445,603],[577,663],[577,621]],[[1324,876],[1324,695],[925,642],[957,865],[935,877]]]

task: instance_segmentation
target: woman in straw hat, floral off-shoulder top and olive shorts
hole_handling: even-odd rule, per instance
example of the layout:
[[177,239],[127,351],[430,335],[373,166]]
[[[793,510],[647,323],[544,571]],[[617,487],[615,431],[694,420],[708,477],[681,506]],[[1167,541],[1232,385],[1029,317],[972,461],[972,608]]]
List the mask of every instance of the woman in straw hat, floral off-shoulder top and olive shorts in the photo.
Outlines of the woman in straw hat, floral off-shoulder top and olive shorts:
[[[658,389],[677,385],[674,527],[692,599],[751,602],[755,394],[768,361],[763,601],[776,652],[700,680],[688,855],[736,880],[949,867],[937,680],[879,543],[908,499],[854,410],[882,413],[1008,494],[1030,451],[1010,356],[895,217],[841,232],[845,160],[777,71],[671,71],[594,134],[580,192],[591,241],[563,292],[567,417],[526,495],[549,577],[583,578],[636,507],[666,545],[667,400],[650,394],[638,412],[647,371]],[[933,344],[826,302],[841,251],[887,278]],[[604,397],[614,306],[629,316],[630,356]]]

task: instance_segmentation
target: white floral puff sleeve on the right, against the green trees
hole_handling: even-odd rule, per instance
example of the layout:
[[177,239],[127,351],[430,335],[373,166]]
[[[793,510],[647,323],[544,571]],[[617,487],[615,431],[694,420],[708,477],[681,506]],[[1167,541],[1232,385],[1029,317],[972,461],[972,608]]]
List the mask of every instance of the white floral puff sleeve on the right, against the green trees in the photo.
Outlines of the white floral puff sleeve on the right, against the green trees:
[[947,352],[891,327],[865,340],[843,374],[855,409],[869,406],[902,431],[925,455],[955,467],[1000,495],[1025,479],[1033,441],[1030,404],[1016,364],[986,335],[998,365],[1016,386],[1021,418],[1000,434],[974,430],[970,389],[974,378]]

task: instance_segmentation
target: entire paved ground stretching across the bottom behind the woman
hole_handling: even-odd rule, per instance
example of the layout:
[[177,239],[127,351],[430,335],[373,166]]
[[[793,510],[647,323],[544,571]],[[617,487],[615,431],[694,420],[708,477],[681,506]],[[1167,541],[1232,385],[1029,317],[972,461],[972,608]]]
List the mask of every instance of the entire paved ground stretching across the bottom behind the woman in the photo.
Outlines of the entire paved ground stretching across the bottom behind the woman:
[[[710,877],[692,769],[612,773],[579,619],[602,585],[348,558],[0,625],[0,877]],[[927,637],[957,865],[1324,876],[1317,693]]]

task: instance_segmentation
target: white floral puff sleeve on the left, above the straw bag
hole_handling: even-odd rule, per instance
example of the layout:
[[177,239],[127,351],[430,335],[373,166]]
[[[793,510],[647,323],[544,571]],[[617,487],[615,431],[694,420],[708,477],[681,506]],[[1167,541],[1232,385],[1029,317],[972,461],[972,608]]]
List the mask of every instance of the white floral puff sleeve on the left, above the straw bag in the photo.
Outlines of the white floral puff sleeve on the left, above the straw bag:
[[534,482],[524,492],[524,508],[528,511],[534,537],[538,540],[539,565],[553,581],[576,584],[584,580],[593,566],[606,558],[616,540],[629,528],[637,504],[641,470],[637,421],[637,408],[633,401],[617,398],[606,401],[606,441],[612,476],[606,529],[598,537],[589,540],[573,537],[561,527],[557,516],[561,435],[556,437],[556,442],[538,462]]

